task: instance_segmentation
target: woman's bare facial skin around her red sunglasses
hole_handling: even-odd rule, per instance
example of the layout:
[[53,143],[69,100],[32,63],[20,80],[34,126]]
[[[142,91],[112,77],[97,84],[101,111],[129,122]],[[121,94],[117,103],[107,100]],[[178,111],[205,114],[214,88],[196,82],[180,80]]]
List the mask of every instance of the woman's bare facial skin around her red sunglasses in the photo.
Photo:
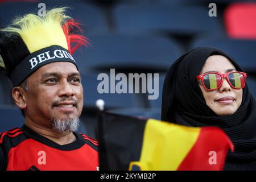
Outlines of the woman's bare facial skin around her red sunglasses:
[[[221,55],[214,55],[208,57],[201,70],[200,74],[206,72],[219,72],[228,73],[235,71],[234,65],[225,57]],[[199,80],[200,81],[200,80]],[[200,89],[203,92],[203,96],[206,104],[217,115],[230,115],[237,111],[242,102],[242,89],[233,89],[224,78],[221,87],[217,90],[208,91],[204,89],[204,86],[199,83]]]

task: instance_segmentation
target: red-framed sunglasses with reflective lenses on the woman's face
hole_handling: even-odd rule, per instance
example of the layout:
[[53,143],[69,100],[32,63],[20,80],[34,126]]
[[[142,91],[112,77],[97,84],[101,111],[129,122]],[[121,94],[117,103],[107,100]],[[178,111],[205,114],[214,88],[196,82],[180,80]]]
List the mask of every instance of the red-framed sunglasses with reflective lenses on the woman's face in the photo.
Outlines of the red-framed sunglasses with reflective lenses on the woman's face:
[[197,76],[197,80],[201,80],[206,90],[219,89],[223,83],[224,78],[228,81],[229,85],[234,89],[242,89],[245,87],[246,73],[243,72],[229,72],[217,73],[210,72]]

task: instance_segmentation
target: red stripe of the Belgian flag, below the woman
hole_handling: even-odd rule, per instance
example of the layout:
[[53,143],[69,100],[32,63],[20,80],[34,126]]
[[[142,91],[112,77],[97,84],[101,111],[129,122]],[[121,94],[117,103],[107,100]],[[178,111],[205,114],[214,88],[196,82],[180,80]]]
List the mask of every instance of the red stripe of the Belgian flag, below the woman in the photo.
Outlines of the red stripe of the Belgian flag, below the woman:
[[217,127],[202,127],[196,143],[177,170],[222,170],[229,148],[234,151],[233,143],[224,131]]

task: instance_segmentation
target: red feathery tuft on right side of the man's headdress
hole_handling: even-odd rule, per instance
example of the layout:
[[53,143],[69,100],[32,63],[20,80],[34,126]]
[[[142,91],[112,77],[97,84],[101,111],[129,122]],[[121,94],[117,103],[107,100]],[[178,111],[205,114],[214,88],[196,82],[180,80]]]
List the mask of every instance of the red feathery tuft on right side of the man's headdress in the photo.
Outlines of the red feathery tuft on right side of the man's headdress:
[[65,37],[67,39],[68,51],[71,54],[73,54],[73,52],[75,52],[76,49],[80,46],[87,47],[88,45],[90,45],[88,39],[85,36],[75,34],[75,32],[73,32],[75,29],[77,29],[79,33],[82,34],[80,26],[80,23],[75,22],[73,19],[69,19],[62,27]]

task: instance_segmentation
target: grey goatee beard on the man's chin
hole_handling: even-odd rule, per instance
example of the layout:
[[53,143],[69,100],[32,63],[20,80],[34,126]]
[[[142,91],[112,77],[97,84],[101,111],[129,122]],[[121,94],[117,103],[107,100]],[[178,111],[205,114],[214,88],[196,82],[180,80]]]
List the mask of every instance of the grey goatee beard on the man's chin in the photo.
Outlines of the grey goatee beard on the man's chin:
[[79,118],[51,119],[52,129],[59,133],[63,133],[64,131],[75,132],[79,127],[79,123]]

